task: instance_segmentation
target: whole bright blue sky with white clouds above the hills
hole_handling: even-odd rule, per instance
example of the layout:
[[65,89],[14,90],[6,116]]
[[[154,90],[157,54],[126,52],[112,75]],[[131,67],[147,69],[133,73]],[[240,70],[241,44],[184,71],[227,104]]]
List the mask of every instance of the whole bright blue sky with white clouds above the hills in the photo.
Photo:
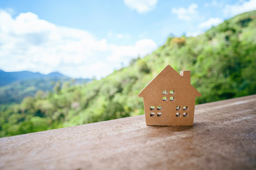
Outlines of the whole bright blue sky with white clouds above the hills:
[[196,36],[249,1],[0,1],[0,69],[105,77],[163,45]]

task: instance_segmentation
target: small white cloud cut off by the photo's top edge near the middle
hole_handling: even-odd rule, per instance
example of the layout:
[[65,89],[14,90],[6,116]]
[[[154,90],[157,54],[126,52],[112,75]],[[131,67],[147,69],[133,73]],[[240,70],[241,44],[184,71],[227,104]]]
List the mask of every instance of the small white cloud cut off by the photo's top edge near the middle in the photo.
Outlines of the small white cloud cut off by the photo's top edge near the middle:
[[124,0],[129,8],[136,9],[138,13],[147,13],[154,9],[158,0]]

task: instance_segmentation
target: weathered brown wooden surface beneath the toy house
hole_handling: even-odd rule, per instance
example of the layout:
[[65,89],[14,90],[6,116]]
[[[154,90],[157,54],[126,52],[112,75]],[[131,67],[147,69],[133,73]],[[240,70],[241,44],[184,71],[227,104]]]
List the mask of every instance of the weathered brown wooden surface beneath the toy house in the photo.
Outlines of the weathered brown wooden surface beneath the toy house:
[[193,127],[139,115],[4,137],[0,169],[256,169],[256,95],[196,106]]

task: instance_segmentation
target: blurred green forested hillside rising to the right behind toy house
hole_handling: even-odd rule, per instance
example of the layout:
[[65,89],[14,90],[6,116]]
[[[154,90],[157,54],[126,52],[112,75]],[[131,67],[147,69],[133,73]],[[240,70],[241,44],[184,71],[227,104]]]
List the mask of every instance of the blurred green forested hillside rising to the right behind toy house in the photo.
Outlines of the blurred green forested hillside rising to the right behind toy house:
[[99,81],[38,93],[1,108],[1,137],[143,114],[137,94],[171,64],[191,70],[196,103],[256,94],[256,11],[242,13],[197,37],[170,36],[151,55]]

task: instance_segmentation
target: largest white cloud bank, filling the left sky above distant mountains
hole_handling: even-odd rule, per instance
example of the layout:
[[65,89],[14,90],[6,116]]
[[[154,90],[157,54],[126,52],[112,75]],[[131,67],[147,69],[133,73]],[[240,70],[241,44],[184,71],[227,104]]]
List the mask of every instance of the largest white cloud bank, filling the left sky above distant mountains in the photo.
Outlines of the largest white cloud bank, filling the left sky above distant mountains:
[[34,13],[13,18],[8,11],[0,10],[0,69],[5,71],[58,71],[71,77],[100,78],[122,62],[155,49],[153,40],[113,45],[85,30],[55,26]]

